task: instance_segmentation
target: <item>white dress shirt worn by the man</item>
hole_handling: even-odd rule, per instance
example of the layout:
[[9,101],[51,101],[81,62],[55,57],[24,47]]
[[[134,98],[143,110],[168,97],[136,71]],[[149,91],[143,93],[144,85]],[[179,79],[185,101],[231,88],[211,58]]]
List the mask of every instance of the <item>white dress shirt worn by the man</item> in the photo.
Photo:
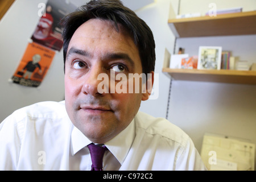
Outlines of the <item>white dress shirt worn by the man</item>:
[[[0,124],[0,170],[90,170],[90,143],[73,126],[64,101],[39,102]],[[206,169],[184,131],[140,111],[105,146],[104,170]]]

